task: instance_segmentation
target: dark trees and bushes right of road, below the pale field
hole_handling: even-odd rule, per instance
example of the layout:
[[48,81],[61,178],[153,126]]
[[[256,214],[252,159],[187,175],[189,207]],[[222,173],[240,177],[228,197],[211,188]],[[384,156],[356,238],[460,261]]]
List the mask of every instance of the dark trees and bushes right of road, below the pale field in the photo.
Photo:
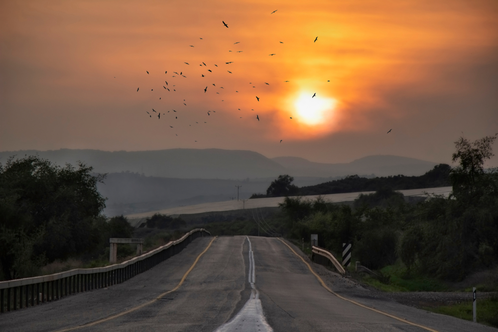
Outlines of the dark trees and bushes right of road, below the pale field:
[[476,269],[498,264],[498,172],[485,171],[493,156],[488,136],[456,142],[449,173],[453,192],[431,196],[416,205],[384,188],[361,195],[353,207],[286,197],[290,237],[318,234],[319,245],[336,253],[353,244],[353,258],[380,269],[400,259],[407,273],[416,271],[444,280],[461,280]]

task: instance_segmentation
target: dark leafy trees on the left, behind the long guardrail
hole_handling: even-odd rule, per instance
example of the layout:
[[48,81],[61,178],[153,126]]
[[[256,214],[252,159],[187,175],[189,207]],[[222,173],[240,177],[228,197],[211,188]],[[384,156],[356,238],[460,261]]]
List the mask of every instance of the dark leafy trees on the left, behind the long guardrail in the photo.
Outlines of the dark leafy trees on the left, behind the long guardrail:
[[0,164],[0,278],[37,275],[54,260],[96,258],[110,237],[131,237],[126,219],[108,219],[92,167],[59,167],[28,156]]

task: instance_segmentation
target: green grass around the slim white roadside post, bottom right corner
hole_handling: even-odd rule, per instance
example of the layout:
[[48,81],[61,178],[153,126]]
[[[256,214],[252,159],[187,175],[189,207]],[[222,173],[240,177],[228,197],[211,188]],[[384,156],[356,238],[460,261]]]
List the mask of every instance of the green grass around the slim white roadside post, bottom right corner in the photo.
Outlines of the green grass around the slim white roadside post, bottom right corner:
[[[473,320],[472,301],[435,308],[426,307],[423,309],[467,321]],[[477,299],[477,322],[498,328],[498,296],[490,299]]]

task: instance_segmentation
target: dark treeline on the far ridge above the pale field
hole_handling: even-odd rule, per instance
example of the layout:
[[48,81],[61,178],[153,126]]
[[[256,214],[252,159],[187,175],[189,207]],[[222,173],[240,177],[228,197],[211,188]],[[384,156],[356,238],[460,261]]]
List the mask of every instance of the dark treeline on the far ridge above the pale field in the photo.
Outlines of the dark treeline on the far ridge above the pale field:
[[294,179],[291,176],[280,175],[268,187],[266,194],[253,194],[251,198],[342,194],[377,191],[386,187],[392,190],[446,187],[451,185],[450,172],[449,165],[439,164],[421,176],[396,175],[368,179],[351,175],[341,180],[301,188],[292,184]]

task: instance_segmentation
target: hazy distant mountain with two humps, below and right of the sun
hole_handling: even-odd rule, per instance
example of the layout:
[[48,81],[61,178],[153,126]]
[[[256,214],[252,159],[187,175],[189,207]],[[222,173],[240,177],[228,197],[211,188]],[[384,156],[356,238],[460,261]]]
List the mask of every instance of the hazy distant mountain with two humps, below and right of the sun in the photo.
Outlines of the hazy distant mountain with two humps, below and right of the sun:
[[418,176],[431,170],[437,163],[390,155],[367,156],[350,163],[325,164],[315,163],[299,157],[276,157],[272,158],[293,176],[346,176],[346,175],[368,175],[376,176],[406,175]]

